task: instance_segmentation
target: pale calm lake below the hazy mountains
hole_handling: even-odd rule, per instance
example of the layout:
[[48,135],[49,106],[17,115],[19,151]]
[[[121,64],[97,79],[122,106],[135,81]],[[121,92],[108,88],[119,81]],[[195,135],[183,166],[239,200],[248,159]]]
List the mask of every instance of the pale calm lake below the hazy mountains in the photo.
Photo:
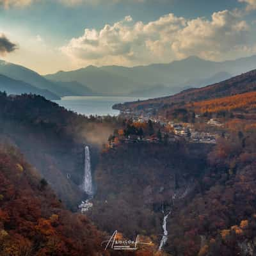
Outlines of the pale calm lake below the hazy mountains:
[[[124,103],[129,101],[136,101],[138,97],[102,97],[102,96],[68,96],[63,97],[61,100],[54,100],[60,106],[68,110],[72,110],[82,115],[98,115],[115,116],[119,114],[118,110],[112,109],[116,103]],[[147,98],[140,98],[144,100]]]

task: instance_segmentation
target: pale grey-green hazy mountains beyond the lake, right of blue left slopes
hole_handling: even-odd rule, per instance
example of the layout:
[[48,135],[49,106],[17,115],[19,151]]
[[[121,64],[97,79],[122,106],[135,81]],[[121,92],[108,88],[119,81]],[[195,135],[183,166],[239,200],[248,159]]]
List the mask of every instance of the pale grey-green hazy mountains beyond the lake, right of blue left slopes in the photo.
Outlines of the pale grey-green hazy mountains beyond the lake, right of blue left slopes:
[[70,72],[60,71],[45,78],[52,81],[77,81],[94,92],[112,95],[129,95],[136,91],[151,90],[163,84],[170,88],[169,94],[173,94],[183,88],[220,82],[253,68],[256,68],[256,56],[223,62],[207,61],[191,56],[172,63],[132,68],[89,66]]

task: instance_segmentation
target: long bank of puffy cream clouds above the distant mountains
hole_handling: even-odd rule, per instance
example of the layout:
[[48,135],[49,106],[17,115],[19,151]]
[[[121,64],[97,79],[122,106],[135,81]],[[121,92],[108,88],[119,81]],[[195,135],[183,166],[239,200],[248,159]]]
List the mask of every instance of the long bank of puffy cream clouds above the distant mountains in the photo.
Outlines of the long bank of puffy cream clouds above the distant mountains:
[[146,65],[190,55],[218,60],[239,52],[248,30],[246,21],[228,10],[213,13],[211,19],[170,13],[147,24],[127,16],[99,30],[86,28],[61,51],[84,65]]

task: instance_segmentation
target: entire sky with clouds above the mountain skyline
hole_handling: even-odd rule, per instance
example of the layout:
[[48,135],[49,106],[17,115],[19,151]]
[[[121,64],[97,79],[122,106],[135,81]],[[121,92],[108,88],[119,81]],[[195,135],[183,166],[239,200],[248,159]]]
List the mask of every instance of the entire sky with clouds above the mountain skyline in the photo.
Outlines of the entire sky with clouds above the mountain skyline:
[[40,74],[256,54],[256,0],[0,0],[0,58]]

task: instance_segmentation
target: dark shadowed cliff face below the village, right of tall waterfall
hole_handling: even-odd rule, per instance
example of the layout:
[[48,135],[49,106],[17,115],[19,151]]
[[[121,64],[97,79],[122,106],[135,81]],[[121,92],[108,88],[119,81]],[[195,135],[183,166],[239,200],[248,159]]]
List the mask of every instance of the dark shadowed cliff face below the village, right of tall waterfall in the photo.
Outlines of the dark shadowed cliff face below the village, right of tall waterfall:
[[101,229],[125,236],[163,233],[163,212],[172,196],[194,193],[196,177],[204,172],[211,146],[134,144],[104,152],[95,171],[97,194],[90,218]]

